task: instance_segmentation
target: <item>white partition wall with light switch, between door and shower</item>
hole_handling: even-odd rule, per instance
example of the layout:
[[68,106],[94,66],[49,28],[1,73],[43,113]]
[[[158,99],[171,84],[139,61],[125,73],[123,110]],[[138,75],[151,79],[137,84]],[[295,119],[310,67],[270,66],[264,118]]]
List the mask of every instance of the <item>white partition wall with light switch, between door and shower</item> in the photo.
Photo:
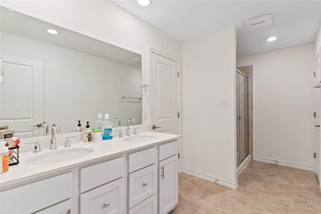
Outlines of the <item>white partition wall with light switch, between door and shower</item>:
[[[229,28],[182,45],[183,171],[233,188],[235,39],[235,28]],[[229,107],[220,107],[226,98]]]

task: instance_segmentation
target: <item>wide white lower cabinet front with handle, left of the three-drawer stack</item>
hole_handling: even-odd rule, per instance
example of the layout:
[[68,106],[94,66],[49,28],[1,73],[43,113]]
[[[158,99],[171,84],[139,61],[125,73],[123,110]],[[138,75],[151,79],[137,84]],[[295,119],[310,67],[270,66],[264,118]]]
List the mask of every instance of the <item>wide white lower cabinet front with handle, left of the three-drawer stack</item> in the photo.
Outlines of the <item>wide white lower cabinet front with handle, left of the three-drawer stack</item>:
[[124,178],[99,186],[80,195],[80,213],[123,213],[125,209]]

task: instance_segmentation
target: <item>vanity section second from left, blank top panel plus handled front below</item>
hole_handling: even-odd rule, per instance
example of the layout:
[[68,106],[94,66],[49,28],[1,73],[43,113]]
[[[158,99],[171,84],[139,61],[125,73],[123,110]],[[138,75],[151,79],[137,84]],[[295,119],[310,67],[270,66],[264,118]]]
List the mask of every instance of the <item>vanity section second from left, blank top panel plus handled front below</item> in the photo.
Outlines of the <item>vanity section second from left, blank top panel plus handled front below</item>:
[[81,168],[80,213],[124,213],[124,175],[124,157]]

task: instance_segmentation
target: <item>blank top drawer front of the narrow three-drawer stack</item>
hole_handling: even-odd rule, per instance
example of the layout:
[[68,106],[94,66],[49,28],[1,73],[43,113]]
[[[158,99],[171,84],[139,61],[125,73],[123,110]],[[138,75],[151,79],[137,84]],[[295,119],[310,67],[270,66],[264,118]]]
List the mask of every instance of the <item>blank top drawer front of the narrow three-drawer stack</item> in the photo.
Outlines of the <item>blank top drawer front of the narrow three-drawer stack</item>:
[[128,155],[128,172],[133,172],[157,161],[156,147]]

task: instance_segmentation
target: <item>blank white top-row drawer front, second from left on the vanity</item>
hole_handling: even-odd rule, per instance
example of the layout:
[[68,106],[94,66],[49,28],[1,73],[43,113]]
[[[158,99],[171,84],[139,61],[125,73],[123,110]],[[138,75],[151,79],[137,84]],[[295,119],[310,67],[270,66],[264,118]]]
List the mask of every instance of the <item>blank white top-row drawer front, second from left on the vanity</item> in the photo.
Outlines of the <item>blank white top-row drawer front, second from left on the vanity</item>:
[[80,192],[123,177],[125,158],[119,157],[80,169]]

